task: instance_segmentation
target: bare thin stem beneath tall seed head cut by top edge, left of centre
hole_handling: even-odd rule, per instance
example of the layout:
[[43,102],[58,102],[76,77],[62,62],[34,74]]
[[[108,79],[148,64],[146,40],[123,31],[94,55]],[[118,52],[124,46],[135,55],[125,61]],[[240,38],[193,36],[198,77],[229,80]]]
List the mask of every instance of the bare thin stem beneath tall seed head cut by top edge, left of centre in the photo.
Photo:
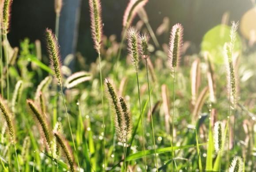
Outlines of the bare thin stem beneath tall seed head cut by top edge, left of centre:
[[100,88],[101,88],[101,104],[102,104],[102,121],[103,121],[103,168],[106,172],[106,155],[105,155],[105,116],[104,116],[104,99],[103,99],[103,84],[102,84],[102,71],[101,71],[101,58],[100,58],[100,51],[98,50],[99,55],[99,77],[100,77]]

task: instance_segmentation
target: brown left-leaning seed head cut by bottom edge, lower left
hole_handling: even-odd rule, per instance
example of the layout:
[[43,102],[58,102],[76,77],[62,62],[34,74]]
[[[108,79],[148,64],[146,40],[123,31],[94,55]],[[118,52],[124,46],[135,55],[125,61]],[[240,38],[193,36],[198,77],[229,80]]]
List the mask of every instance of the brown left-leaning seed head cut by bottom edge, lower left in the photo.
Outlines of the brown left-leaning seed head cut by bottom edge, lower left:
[[69,147],[67,146],[67,142],[61,137],[61,135],[58,132],[54,131],[53,135],[55,136],[56,142],[60,146],[65,158],[69,162],[69,168],[71,172],[75,172],[75,165],[74,165],[72,153]]

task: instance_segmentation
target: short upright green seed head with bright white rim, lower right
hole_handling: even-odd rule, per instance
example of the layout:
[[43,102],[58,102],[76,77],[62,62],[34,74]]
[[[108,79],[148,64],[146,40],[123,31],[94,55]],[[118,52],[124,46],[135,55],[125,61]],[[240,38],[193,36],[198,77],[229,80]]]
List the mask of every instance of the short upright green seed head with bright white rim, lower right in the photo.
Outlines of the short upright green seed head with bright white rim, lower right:
[[218,154],[224,147],[224,124],[221,121],[217,121],[214,124],[214,147]]

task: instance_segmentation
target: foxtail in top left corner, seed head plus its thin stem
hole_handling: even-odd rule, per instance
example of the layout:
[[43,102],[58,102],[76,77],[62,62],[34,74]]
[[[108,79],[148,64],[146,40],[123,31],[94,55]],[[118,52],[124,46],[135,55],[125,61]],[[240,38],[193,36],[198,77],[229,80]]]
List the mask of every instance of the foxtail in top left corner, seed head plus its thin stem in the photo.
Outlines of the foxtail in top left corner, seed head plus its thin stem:
[[11,4],[12,0],[4,0],[3,7],[3,18],[2,18],[2,27],[3,27],[3,35],[5,40],[4,52],[5,52],[5,66],[6,66],[6,80],[7,80],[7,100],[9,101],[10,94],[10,85],[9,85],[9,57],[8,57],[8,38],[7,34],[10,29],[10,20],[11,20]]

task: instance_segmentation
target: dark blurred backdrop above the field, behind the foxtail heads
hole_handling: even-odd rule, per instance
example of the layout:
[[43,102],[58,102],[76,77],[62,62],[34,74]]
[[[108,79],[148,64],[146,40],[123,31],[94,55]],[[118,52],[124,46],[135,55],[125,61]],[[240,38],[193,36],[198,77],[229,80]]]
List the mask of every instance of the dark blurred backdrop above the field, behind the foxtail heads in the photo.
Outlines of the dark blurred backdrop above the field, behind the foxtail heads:
[[[129,0],[102,0],[103,32],[113,34],[119,42],[122,31],[122,16]],[[230,21],[240,21],[242,16],[255,7],[254,0],[149,0],[145,6],[149,24],[156,33],[164,23],[168,30],[177,22],[184,26],[184,40],[191,41],[190,54],[200,51],[204,34],[214,26]],[[8,35],[11,46],[19,46],[24,38],[31,42],[42,41],[45,52],[44,30],[55,28],[54,0],[13,0],[11,30]],[[138,23],[137,16],[133,25]],[[143,23],[142,23],[143,24]],[[142,26],[143,27],[143,26]],[[80,52],[86,62],[95,61],[88,0],[63,0],[60,19],[61,55]],[[160,44],[167,43],[169,33],[157,36]]]

